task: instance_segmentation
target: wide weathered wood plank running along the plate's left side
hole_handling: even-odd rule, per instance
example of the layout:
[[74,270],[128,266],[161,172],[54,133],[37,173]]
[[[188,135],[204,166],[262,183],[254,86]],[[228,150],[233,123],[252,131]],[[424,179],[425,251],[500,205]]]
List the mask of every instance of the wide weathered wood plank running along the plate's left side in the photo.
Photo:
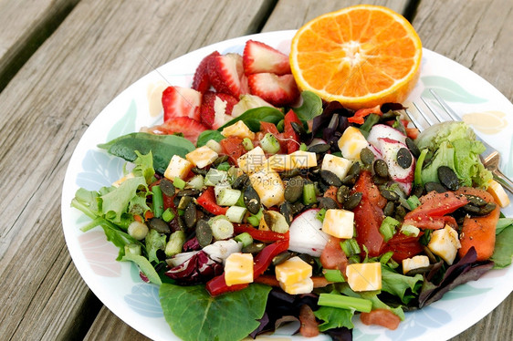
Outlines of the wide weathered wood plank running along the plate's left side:
[[92,119],[153,66],[253,33],[270,3],[82,1],[0,93],[3,339],[81,338],[99,311],[59,214],[69,157]]

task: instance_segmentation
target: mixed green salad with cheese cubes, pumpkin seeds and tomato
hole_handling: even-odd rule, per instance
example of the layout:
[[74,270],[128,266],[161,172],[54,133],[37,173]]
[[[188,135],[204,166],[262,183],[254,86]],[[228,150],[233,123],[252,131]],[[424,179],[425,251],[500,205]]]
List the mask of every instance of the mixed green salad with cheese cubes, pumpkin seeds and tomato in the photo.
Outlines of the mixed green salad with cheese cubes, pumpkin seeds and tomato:
[[[416,137],[400,104],[354,112],[309,92],[296,106],[293,87],[287,99],[255,92],[233,105],[239,116],[217,92],[210,107],[225,108],[181,131],[189,140],[170,127],[194,124],[197,110],[177,119],[164,107],[151,133],[100,146],[134,168],[72,202],[93,219],[85,231],[101,226],[119,259],[160,285],[177,336],[238,339],[294,316],[302,335],[349,338],[355,314],[393,328],[404,311],[511,262],[511,243],[496,247],[511,232],[499,218],[507,202],[500,188],[480,189],[491,178],[464,123]],[[203,300],[208,324],[181,325],[181,305]]]

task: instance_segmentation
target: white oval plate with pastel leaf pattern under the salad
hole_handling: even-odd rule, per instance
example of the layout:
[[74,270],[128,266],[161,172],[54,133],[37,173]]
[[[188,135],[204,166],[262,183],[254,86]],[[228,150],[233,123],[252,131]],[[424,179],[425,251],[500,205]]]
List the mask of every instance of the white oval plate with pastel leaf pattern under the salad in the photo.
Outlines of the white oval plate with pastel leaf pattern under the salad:
[[[138,131],[142,126],[162,121],[162,89],[168,84],[189,87],[195,67],[212,51],[242,54],[246,40],[251,38],[288,54],[294,32],[270,32],[226,40],[179,57],[152,71],[120,93],[99,113],[69,161],[62,190],[62,223],[69,253],[82,278],[99,300],[145,336],[154,340],[177,339],[163,318],[158,287],[143,283],[135,265],[115,261],[118,250],[106,241],[100,228],[81,233],[80,226],[89,222],[89,219],[69,206],[79,187],[98,190],[100,186],[110,185],[120,178],[124,161],[109,156],[96,146],[120,135]],[[429,96],[425,88],[436,88],[451,107],[465,113],[464,119],[480,120],[480,124],[474,124],[476,132],[501,151],[504,156],[503,170],[513,176],[513,139],[510,135],[513,105],[508,99],[466,67],[426,49],[421,78],[410,98]],[[509,217],[513,216],[511,207],[503,212]],[[512,290],[512,266],[491,271],[476,282],[456,287],[433,305],[407,313],[405,321],[395,331],[361,325],[360,319],[355,318],[353,336],[355,340],[448,339],[474,325]],[[298,336],[290,338],[301,339]],[[330,338],[319,336],[318,339]]]

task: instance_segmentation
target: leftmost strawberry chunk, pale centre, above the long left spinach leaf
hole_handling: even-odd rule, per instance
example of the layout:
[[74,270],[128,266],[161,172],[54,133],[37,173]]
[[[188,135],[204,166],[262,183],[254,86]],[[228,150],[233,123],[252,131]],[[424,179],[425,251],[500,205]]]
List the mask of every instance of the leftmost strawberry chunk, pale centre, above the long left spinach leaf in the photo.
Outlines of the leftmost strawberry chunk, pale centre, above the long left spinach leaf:
[[162,92],[164,122],[181,117],[188,117],[199,121],[201,100],[202,94],[193,88],[166,88]]

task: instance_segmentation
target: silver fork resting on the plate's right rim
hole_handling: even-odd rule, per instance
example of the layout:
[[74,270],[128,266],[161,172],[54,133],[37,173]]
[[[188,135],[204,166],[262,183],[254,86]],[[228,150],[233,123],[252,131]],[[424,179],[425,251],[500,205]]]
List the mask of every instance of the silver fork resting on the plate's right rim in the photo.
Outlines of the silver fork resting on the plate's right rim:
[[[429,92],[434,96],[434,99],[440,104],[440,106],[445,110],[447,115],[453,119],[453,120],[461,120],[455,113],[453,109],[451,109],[447,103],[445,103],[445,100],[442,99],[438,94],[434,91],[434,89],[430,88]],[[428,101],[426,101],[424,98],[421,97],[423,100],[425,106],[427,109],[431,111],[433,115],[428,115],[426,112],[424,112],[423,109],[420,108],[416,103],[414,103],[415,109],[419,112],[419,114],[430,124],[434,125],[438,122],[443,122],[446,119],[444,119],[439,112],[437,112],[432,105],[429,104]],[[421,121],[408,109],[405,110],[408,117],[412,120],[415,127],[419,130],[423,130],[423,124]],[[434,120],[434,119],[436,120]],[[487,144],[486,141],[481,140],[479,137],[476,136],[477,140],[480,140],[483,145],[485,145],[486,149],[481,155],[481,162],[483,162],[483,165],[487,168],[488,171],[491,171],[493,174],[493,177],[495,181],[500,183],[506,190],[513,193],[513,181],[509,179],[502,171],[499,169],[499,163],[500,163],[500,153],[495,150],[493,147],[491,147],[489,144]]]

